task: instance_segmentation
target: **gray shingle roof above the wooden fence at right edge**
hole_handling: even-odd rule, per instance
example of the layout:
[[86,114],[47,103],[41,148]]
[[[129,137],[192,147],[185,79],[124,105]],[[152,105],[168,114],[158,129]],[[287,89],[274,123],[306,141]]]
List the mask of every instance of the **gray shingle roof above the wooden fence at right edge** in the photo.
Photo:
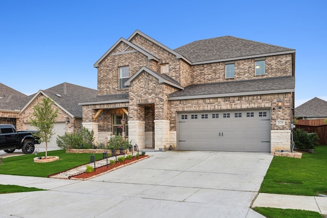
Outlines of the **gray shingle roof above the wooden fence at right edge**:
[[295,117],[327,117],[327,102],[315,97],[296,107]]

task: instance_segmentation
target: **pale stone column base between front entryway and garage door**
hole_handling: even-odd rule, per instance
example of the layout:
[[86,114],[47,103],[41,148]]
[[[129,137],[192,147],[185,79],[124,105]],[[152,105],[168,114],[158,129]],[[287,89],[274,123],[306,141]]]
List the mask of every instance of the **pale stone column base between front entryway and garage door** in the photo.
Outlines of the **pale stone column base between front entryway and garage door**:
[[154,150],[164,150],[170,142],[169,120],[154,120]]

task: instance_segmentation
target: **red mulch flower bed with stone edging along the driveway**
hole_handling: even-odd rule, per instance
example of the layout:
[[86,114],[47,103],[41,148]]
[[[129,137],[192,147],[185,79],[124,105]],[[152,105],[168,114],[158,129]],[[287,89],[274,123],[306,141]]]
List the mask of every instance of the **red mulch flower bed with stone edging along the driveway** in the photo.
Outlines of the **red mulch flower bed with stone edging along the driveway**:
[[86,179],[94,178],[94,177],[102,175],[104,173],[108,173],[110,171],[114,171],[115,169],[132,164],[134,162],[137,162],[139,160],[146,159],[148,157],[150,157],[150,156],[149,155],[140,155],[139,158],[133,157],[131,160],[125,159],[123,162],[116,162],[114,164],[110,164],[110,162],[108,161],[108,166],[107,165],[100,166],[100,167],[97,167],[96,170],[91,173],[84,172],[84,173],[81,173],[81,174],[78,174],[75,176],[70,176],[70,177],[68,177],[68,179],[86,180]]

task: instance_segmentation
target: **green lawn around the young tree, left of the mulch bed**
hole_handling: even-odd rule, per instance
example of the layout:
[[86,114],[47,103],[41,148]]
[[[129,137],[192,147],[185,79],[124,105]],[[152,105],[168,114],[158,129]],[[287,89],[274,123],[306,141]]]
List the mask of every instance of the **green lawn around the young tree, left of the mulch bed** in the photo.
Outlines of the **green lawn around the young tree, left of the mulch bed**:
[[[44,156],[45,152],[39,153]],[[59,160],[49,163],[34,163],[34,154],[3,158],[0,174],[48,177],[67,169],[90,162],[91,154],[66,154],[65,150],[49,151],[48,156],[58,156]],[[96,160],[102,159],[102,154],[95,154]]]

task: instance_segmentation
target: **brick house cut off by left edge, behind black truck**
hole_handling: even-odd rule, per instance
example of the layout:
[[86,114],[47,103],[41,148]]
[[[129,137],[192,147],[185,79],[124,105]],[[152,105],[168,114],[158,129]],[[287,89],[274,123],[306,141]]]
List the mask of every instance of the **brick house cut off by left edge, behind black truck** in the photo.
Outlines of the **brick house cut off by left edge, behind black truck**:
[[0,124],[12,124],[20,109],[26,104],[27,95],[0,83]]

